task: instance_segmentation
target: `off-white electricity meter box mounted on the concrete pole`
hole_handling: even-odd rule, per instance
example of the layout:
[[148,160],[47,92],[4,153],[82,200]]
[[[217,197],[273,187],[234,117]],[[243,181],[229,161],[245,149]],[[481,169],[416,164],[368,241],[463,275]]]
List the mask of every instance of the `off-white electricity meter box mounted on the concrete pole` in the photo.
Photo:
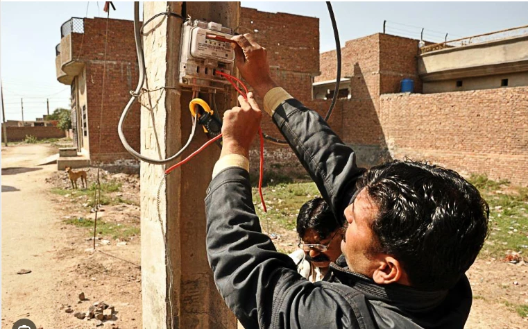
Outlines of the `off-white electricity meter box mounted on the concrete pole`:
[[235,51],[230,42],[221,41],[232,36],[230,28],[218,23],[186,21],[180,47],[180,85],[204,92],[225,90],[229,82],[216,71],[232,74]]

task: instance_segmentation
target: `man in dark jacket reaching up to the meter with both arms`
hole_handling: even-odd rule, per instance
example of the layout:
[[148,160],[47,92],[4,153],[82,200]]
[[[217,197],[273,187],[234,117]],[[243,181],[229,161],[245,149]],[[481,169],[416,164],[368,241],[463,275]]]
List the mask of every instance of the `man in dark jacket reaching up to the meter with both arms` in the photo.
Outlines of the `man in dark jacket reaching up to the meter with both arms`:
[[[250,144],[262,117],[248,94],[225,112],[223,148],[207,189],[207,257],[244,328],[463,328],[465,276],[488,232],[488,205],[459,174],[420,162],[359,169],[325,121],[271,79],[266,51],[233,38],[237,67],[335,216],[348,223],[345,262],[328,282],[302,278],[262,234],[251,199]],[[350,127],[353,129],[353,126]]]

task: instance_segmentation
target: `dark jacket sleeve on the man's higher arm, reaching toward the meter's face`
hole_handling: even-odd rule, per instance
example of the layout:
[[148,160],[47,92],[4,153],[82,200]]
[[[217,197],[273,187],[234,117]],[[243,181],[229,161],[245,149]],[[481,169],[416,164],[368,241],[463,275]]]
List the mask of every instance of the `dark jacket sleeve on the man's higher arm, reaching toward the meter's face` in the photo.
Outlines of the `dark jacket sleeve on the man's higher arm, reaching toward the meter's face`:
[[317,112],[296,99],[288,99],[275,109],[273,121],[323,199],[337,218],[343,218],[356,180],[364,173],[364,169],[357,167],[352,148],[341,141]]

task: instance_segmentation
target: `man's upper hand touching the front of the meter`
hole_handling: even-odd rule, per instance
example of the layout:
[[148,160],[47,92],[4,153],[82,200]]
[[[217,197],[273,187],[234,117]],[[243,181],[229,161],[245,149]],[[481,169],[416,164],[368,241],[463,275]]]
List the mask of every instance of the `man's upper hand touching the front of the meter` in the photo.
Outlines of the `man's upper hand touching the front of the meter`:
[[253,40],[249,34],[235,35],[232,44],[237,54],[237,67],[240,74],[253,87],[257,95],[264,97],[277,83],[271,78],[266,49]]

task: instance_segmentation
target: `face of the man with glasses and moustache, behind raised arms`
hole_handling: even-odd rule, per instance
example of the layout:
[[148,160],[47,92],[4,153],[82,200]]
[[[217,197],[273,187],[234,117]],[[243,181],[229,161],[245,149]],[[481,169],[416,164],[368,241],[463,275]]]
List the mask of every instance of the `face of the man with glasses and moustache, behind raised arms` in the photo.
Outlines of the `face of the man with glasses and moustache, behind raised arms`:
[[340,242],[343,238],[341,229],[337,229],[334,232],[330,233],[325,239],[321,239],[315,230],[312,228],[307,228],[305,231],[305,236],[302,238],[304,244],[323,244],[327,246],[326,251],[317,251],[315,249],[310,249],[310,251],[305,251],[306,260],[312,262],[316,267],[329,267],[330,262],[335,262],[339,255],[341,255]]

